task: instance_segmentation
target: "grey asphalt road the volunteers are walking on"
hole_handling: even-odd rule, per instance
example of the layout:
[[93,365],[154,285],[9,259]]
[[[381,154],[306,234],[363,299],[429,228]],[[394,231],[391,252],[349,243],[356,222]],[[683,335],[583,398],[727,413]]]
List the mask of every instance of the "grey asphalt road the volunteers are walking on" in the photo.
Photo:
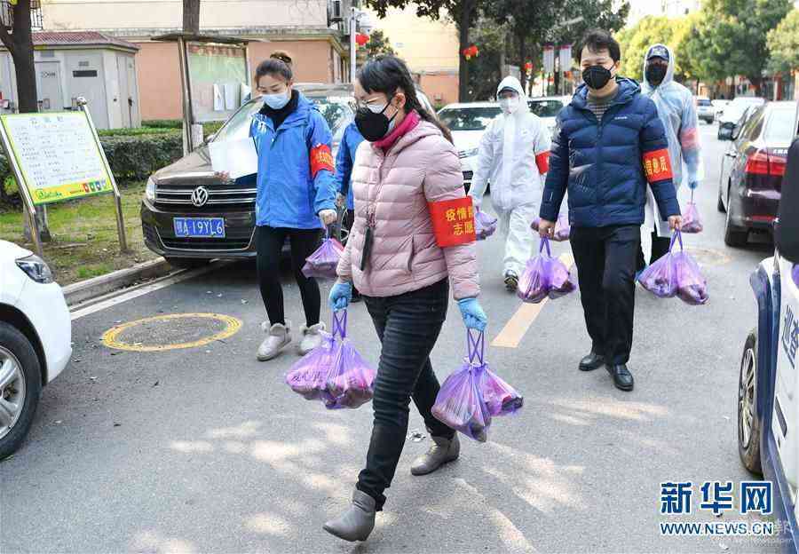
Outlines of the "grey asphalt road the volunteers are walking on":
[[[458,462],[409,474],[430,439],[408,440],[385,511],[361,545],[321,524],[343,510],[364,462],[369,405],[326,411],[282,378],[297,360],[255,359],[265,319],[252,265],[227,266],[75,321],[74,362],[44,391],[28,442],[0,463],[0,551],[11,552],[718,552],[776,550],[764,539],[670,538],[662,521],[739,521],[660,514],[661,481],[748,479],[736,449],[740,352],[754,325],[748,275],[764,241],[724,246],[716,211],[724,145],[702,124],[705,231],[687,238],[708,279],[708,305],[637,291],[634,392],[604,369],[577,370],[589,351],[577,294],[542,307],[518,347],[493,347],[492,368],[525,395],[496,418],[486,444],[463,439]],[[683,200],[685,199],[683,195]],[[558,245],[566,252],[568,245]],[[494,338],[521,303],[502,289],[497,237],[479,244],[481,298]],[[324,286],[327,294],[329,284]],[[286,276],[289,318],[301,321]],[[162,352],[108,348],[109,328],[173,313],[220,313],[243,325],[211,344]],[[326,310],[324,316],[329,317]],[[352,341],[376,362],[363,305]],[[191,343],[224,322],[128,328],[117,340]],[[455,305],[433,363],[443,380],[463,355]],[[423,430],[412,408],[410,430]],[[698,495],[694,487],[694,495]],[[749,518],[752,520],[752,518]]]

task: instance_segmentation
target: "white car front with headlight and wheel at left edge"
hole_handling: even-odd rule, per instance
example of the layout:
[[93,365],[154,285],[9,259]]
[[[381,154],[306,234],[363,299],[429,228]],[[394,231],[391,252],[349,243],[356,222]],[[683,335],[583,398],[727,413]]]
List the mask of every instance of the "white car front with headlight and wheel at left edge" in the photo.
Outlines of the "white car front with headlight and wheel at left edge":
[[0,460],[20,447],[42,387],[67,367],[72,321],[41,258],[0,241]]

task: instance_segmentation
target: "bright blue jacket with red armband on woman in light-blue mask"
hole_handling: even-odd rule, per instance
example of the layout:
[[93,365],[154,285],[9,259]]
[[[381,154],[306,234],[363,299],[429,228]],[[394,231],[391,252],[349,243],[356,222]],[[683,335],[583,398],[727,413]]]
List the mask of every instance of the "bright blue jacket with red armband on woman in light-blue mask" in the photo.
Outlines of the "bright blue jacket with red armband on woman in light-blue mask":
[[[336,210],[336,187],[329,154],[332,137],[319,110],[300,94],[297,109],[277,131],[268,116],[256,114],[249,134],[258,153],[256,225],[322,228],[318,214]],[[315,174],[312,154],[323,161],[315,164]]]

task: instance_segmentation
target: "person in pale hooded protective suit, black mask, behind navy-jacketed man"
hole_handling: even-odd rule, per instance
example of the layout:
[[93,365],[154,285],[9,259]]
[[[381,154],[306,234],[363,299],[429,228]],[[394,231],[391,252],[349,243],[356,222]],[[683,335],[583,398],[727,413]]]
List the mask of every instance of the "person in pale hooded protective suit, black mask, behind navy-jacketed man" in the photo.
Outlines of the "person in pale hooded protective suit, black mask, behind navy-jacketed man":
[[[704,165],[700,150],[699,120],[696,116],[693,95],[682,84],[675,83],[674,66],[674,51],[665,44],[651,46],[644,57],[642,93],[653,99],[658,107],[663,127],[666,128],[674,186],[679,196],[683,180],[692,191],[700,185],[704,177]],[[685,176],[683,163],[687,170]],[[668,252],[671,231],[668,228],[668,219],[664,220],[658,210],[652,189],[647,190],[643,234],[652,236],[652,256],[649,260],[652,264]],[[638,272],[643,271],[645,266],[642,246],[638,253]]]

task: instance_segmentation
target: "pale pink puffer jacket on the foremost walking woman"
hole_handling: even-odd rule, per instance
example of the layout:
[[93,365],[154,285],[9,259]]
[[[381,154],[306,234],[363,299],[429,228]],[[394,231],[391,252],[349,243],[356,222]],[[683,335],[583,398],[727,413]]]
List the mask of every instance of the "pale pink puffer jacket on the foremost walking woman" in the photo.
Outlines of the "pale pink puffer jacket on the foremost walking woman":
[[[393,297],[449,277],[456,300],[480,292],[475,243],[439,248],[428,202],[463,198],[455,147],[420,122],[387,153],[364,141],[352,168],[355,222],[338,276],[368,297]],[[369,203],[375,206],[372,253],[360,271]]]

